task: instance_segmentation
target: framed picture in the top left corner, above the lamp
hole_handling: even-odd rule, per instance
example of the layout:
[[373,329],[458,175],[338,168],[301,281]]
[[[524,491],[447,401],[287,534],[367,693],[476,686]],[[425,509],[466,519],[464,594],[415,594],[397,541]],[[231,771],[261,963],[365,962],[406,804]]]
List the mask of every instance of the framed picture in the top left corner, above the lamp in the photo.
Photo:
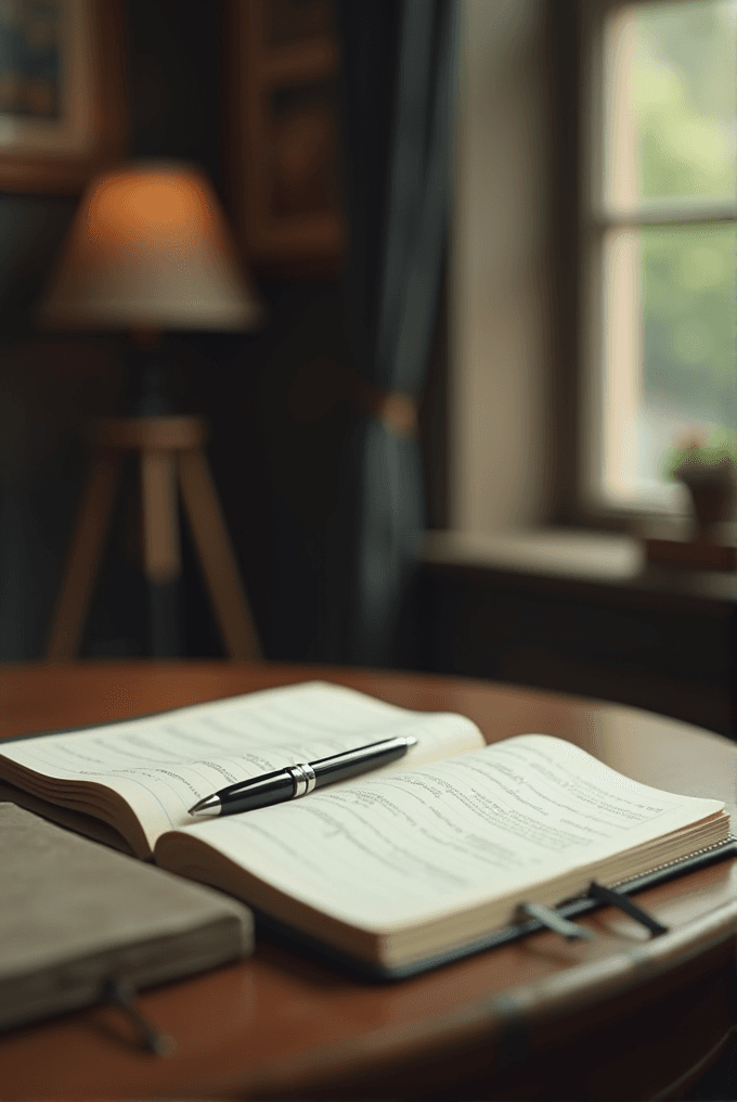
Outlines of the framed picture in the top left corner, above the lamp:
[[0,190],[74,194],[126,153],[121,0],[0,0]]

